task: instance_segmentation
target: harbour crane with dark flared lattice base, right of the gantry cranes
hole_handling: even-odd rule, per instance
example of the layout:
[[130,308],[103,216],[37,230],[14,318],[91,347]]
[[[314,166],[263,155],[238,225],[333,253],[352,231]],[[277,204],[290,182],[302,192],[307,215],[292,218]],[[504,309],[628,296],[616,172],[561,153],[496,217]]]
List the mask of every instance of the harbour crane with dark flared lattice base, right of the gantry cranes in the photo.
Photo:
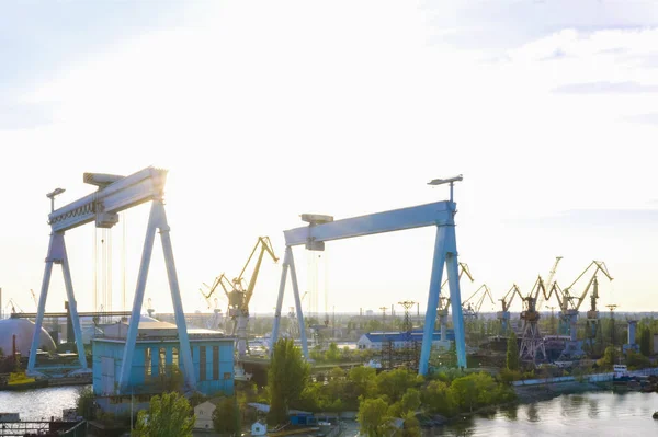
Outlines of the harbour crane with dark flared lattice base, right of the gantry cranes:
[[546,359],[546,347],[544,346],[544,338],[540,333],[540,312],[536,310],[537,298],[540,291],[546,300],[548,295],[544,287],[544,280],[541,276],[537,277],[535,285],[533,286],[530,294],[523,298],[525,308],[521,312],[521,320],[523,321],[523,334],[521,336],[521,347],[519,348],[519,357],[523,360],[532,361],[535,364],[538,356],[542,359]]

